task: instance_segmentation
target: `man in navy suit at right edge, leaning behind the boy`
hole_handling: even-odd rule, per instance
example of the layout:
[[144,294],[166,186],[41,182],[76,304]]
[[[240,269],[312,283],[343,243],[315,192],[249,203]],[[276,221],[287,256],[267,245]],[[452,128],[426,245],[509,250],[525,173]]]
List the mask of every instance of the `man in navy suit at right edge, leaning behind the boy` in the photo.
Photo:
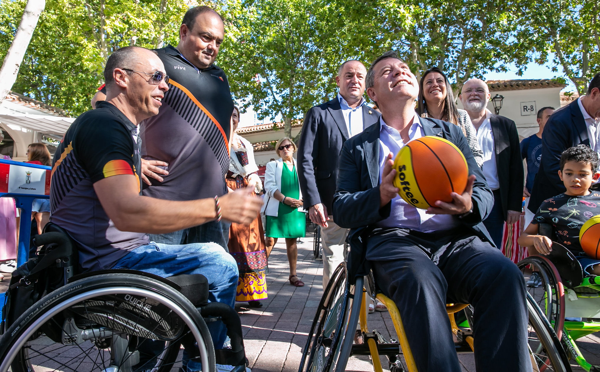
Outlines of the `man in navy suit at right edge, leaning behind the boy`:
[[[591,138],[590,133],[594,134]],[[536,213],[544,200],[565,192],[559,177],[560,155],[577,145],[590,146],[600,153],[600,73],[590,81],[586,95],[556,110],[548,119],[542,133],[542,160],[527,207],[530,211]],[[592,188],[598,186],[593,184]]]

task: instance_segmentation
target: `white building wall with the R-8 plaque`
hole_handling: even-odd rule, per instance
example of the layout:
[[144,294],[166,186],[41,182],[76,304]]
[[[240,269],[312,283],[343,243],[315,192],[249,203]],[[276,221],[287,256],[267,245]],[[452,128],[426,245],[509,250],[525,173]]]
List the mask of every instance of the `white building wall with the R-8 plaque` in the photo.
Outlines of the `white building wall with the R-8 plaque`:
[[[538,132],[538,122],[536,121],[538,110],[542,107],[551,106],[555,109],[560,107],[560,90],[562,88],[542,88],[542,89],[523,89],[521,91],[494,91],[490,92],[491,97],[496,94],[504,96],[500,115],[514,120],[517,124],[517,130],[521,139]],[[527,106],[527,111],[523,110]],[[533,110],[531,109],[533,106]],[[491,101],[488,103],[488,109],[494,112],[494,105]],[[458,108],[462,109],[463,104],[458,101]],[[530,115],[526,115],[530,114]]]

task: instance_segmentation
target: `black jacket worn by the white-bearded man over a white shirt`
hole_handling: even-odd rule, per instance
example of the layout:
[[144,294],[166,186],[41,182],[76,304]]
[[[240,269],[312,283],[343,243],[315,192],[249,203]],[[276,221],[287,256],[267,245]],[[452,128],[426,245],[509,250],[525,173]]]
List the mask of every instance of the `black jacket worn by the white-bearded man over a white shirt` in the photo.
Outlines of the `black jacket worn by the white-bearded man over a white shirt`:
[[506,220],[507,211],[523,210],[524,170],[519,134],[515,122],[504,116],[491,115],[490,125],[494,134],[500,205]]

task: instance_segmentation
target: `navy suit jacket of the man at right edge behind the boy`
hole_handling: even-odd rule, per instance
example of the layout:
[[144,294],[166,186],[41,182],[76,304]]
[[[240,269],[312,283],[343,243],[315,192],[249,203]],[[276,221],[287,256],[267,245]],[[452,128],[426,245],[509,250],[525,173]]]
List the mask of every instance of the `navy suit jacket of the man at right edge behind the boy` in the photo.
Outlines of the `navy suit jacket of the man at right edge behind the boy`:
[[559,178],[562,152],[569,147],[590,145],[586,121],[577,101],[554,112],[544,127],[542,160],[529,199],[529,210],[533,213],[538,211],[544,200],[566,191]]

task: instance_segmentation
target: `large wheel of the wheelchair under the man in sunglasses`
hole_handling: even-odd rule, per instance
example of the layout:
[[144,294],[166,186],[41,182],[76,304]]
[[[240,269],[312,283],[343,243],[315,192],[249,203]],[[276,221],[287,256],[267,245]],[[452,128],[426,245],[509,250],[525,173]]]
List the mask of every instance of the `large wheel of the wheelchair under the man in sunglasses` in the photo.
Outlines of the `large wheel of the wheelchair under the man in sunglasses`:
[[177,370],[180,345],[197,345],[203,372],[214,347],[199,311],[168,284],[101,274],[44,296],[0,338],[0,371]]

